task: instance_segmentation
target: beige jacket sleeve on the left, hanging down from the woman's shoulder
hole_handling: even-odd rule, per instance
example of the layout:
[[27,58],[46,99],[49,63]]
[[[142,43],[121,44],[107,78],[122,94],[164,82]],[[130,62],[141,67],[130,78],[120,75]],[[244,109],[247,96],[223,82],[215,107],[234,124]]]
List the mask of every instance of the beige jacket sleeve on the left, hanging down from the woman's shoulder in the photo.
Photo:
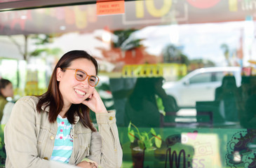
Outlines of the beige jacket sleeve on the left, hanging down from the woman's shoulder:
[[38,157],[36,113],[36,104],[29,97],[22,97],[13,106],[4,128],[6,167],[50,167],[47,160]]

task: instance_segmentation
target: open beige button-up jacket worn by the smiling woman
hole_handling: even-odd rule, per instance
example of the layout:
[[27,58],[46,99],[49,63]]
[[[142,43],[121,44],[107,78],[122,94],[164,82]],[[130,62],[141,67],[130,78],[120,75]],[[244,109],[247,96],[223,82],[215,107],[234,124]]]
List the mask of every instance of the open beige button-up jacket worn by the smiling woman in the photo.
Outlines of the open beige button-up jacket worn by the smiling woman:
[[[58,124],[48,122],[48,109],[41,113],[36,111],[37,102],[37,97],[22,97],[13,107],[4,129],[6,168],[50,167],[48,160],[53,153]],[[91,132],[83,127],[79,117],[75,119],[69,164],[77,165],[88,158],[103,168],[121,167],[123,153],[115,113],[96,113],[99,132]]]

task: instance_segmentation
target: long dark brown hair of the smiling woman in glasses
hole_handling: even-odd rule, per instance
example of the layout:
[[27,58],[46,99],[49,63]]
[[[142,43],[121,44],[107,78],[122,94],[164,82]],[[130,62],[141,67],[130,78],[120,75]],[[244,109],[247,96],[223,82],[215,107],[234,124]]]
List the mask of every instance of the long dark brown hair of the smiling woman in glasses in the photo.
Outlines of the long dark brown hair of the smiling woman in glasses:
[[[98,72],[98,65],[97,61],[94,57],[90,56],[86,51],[83,50],[72,50],[65,55],[63,55],[58,63],[55,66],[55,69],[53,70],[52,76],[50,77],[50,83],[48,85],[48,90],[39,96],[39,102],[36,105],[37,111],[41,111],[42,106],[45,106],[43,110],[46,109],[46,107],[49,107],[49,117],[48,120],[50,123],[54,123],[55,120],[57,120],[58,114],[62,110],[62,107],[64,105],[62,94],[59,89],[59,81],[57,81],[57,69],[60,67],[60,69],[67,68],[72,61],[75,59],[80,58],[86,58],[93,62],[96,70],[96,74]],[[69,110],[65,114],[67,117],[67,120],[69,120],[69,123],[74,124],[74,115],[79,116],[81,119],[81,123],[84,127],[90,128],[93,132],[95,132],[95,127],[93,127],[93,124],[90,121],[90,109],[88,106],[84,104],[72,104],[70,106]]]

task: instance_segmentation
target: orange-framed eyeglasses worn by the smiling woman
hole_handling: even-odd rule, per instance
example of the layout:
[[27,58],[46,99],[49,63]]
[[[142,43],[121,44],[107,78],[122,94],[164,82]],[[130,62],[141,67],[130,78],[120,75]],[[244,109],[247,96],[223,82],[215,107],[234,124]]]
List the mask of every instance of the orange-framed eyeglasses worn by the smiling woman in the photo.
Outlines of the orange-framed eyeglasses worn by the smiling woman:
[[95,87],[97,85],[97,83],[99,83],[99,81],[100,81],[99,77],[90,76],[85,71],[83,71],[82,69],[70,69],[70,70],[75,70],[76,71],[76,73],[74,73],[74,77],[76,78],[76,80],[84,81],[84,80],[86,80],[86,78],[88,76],[88,83],[92,87]]

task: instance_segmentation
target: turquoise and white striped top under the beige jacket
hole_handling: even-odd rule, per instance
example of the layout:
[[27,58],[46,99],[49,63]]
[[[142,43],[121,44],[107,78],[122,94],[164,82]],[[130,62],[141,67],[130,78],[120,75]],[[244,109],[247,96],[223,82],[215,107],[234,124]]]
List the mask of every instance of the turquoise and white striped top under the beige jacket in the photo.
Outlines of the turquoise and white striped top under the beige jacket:
[[60,115],[58,115],[57,123],[58,131],[50,160],[68,163],[73,151],[73,137],[70,134],[72,125],[67,118],[62,118]]

